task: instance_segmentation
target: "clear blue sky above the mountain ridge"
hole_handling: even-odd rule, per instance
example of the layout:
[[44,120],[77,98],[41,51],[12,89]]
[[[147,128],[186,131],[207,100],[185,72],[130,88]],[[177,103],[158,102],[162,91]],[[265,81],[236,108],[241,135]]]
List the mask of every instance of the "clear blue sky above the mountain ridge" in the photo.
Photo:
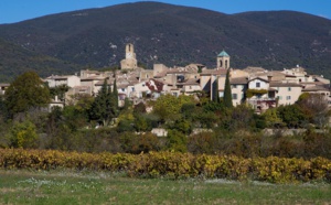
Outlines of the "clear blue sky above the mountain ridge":
[[[0,24],[46,14],[102,8],[130,0],[0,0]],[[223,13],[292,10],[331,19],[331,0],[160,0],[171,4],[205,8]]]

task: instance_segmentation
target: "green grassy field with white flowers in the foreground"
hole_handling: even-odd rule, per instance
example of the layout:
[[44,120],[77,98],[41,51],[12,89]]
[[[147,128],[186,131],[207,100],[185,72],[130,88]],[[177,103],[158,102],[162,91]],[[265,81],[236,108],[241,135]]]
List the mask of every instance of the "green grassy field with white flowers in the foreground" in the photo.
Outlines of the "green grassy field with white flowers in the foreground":
[[331,204],[331,185],[0,170],[0,204]]

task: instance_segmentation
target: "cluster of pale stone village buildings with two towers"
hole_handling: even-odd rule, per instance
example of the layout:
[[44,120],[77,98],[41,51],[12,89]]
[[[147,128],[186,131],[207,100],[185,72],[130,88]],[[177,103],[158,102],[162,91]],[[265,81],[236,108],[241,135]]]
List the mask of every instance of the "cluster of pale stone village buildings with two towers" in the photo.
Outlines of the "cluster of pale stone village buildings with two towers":
[[[61,107],[73,102],[73,96],[76,95],[95,96],[105,79],[111,87],[115,78],[120,105],[125,98],[137,105],[146,98],[156,99],[166,94],[179,96],[204,91],[212,98],[215,95],[213,91],[217,91],[216,95],[222,98],[227,71],[233,105],[246,102],[252,105],[257,114],[280,105],[292,105],[302,93],[320,94],[331,101],[330,80],[323,76],[307,74],[299,65],[282,71],[267,71],[261,67],[236,69],[231,67],[231,56],[225,51],[215,56],[215,65],[214,68],[207,68],[193,63],[185,67],[154,64],[153,69],[145,69],[138,67],[134,45],[127,44],[126,57],[116,73],[84,69],[81,71],[81,75],[52,75],[44,80],[50,87],[70,87],[65,99],[55,98],[51,105]],[[214,86],[217,89],[214,89]]]

